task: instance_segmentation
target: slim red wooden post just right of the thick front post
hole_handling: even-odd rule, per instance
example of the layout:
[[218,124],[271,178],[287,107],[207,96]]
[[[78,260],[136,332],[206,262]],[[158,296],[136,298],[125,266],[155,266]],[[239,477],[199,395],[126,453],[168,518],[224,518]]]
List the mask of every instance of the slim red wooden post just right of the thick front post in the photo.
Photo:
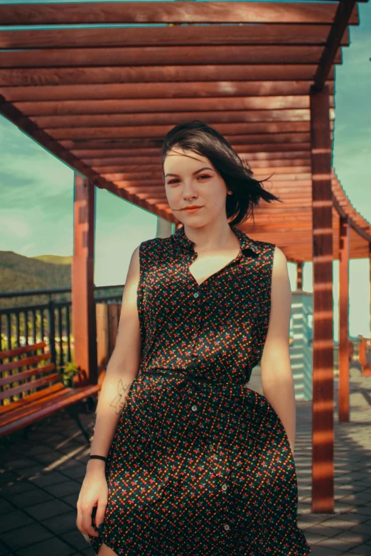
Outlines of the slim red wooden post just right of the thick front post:
[[339,421],[349,421],[349,217],[340,217],[339,246]]

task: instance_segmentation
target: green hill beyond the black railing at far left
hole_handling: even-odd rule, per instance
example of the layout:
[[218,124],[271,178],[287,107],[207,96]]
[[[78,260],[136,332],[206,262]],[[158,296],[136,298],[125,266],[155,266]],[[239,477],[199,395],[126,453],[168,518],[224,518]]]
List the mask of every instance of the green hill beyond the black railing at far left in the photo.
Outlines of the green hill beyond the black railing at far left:
[[[14,251],[0,251],[0,291],[36,290],[44,288],[71,287],[72,256],[41,255],[26,257]],[[54,296],[55,300],[70,299],[69,294]],[[32,298],[1,299],[0,307],[34,305],[46,302],[46,296]]]

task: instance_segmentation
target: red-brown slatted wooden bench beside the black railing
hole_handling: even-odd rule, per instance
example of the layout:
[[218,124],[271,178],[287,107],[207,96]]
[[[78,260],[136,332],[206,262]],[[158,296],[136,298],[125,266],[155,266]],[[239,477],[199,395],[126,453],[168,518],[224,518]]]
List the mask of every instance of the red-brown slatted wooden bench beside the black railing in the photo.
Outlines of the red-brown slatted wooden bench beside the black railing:
[[[65,409],[90,442],[76,403],[97,394],[101,385],[65,386],[45,345],[39,342],[0,351],[0,437],[23,429],[27,438],[33,423]],[[21,398],[14,400],[17,395]]]

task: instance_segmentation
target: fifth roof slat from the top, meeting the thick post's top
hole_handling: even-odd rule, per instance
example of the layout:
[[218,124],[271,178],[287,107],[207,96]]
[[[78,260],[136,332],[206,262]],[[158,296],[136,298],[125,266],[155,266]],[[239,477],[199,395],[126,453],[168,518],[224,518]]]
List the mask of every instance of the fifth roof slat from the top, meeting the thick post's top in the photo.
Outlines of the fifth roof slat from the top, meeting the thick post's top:
[[[80,30],[81,31],[81,30]],[[224,77],[224,76],[223,76]],[[333,94],[333,81],[327,82],[330,94]],[[173,82],[171,87],[164,87],[162,83],[141,83],[138,87],[136,83],[109,83],[101,85],[43,85],[41,87],[1,87],[2,94],[9,102],[26,102],[31,106],[31,102],[40,102],[41,106],[47,107],[50,104],[62,108],[65,106],[72,110],[76,100],[100,100],[112,102],[119,99],[122,103],[135,99],[208,99],[238,97],[289,97],[309,95],[310,83],[308,81],[221,81],[220,76],[217,81],[199,82]],[[244,100],[247,100],[246,98]],[[63,103],[64,104],[64,103]],[[90,106],[90,104],[88,104]],[[27,110],[26,110],[27,111]],[[59,114],[60,112],[58,112]],[[55,112],[54,112],[55,114]]]

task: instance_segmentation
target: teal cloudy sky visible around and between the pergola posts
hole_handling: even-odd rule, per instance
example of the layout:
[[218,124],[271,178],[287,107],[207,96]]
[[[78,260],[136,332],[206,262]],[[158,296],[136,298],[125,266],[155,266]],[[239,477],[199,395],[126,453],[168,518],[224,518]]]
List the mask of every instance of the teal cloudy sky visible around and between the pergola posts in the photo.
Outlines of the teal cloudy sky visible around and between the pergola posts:
[[[350,46],[343,48],[343,65],[335,69],[333,166],[350,202],[371,222],[371,4],[359,8],[360,26],[350,27]],[[72,255],[72,170],[2,116],[0,144],[0,250],[25,256]],[[97,190],[96,215],[95,283],[124,283],[132,252],[156,235],[156,217],[102,190]],[[337,340],[338,261],[333,268]],[[291,263],[289,273],[294,288]],[[311,274],[312,265],[306,263],[307,291],[312,291]],[[368,261],[350,261],[352,335],[370,337],[369,280]]]

